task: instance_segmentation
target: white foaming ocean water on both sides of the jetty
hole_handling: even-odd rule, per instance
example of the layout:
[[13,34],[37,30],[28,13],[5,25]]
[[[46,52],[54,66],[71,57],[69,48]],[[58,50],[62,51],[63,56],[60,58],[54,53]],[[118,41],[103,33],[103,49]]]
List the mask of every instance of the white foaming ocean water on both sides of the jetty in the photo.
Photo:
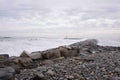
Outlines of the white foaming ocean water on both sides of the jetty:
[[[86,39],[58,39],[58,38],[40,38],[40,37],[0,37],[0,54],[9,54],[10,56],[19,56],[23,50],[29,53],[34,51],[43,51],[62,45],[69,45]],[[120,46],[118,40],[99,39],[99,45]]]

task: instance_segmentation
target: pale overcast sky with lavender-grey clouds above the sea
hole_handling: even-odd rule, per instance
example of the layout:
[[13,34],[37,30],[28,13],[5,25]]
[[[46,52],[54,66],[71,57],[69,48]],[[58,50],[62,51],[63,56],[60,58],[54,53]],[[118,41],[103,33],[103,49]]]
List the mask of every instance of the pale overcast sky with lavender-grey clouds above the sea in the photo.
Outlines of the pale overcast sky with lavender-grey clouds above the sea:
[[119,38],[120,0],[0,0],[0,36]]

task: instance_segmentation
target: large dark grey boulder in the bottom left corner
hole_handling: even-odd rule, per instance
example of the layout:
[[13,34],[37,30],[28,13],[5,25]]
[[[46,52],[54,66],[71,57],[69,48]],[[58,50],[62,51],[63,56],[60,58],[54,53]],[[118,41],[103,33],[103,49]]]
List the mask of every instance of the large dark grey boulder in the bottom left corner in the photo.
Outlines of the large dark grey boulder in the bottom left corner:
[[14,80],[15,70],[12,67],[0,68],[0,80]]

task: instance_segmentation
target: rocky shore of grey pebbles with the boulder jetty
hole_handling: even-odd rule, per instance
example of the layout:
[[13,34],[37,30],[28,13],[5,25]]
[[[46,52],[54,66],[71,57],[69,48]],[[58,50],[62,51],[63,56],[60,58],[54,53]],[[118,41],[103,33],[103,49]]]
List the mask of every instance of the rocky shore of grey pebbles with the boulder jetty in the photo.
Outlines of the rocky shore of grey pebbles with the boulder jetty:
[[120,80],[120,47],[88,39],[19,57],[0,54],[0,80]]

